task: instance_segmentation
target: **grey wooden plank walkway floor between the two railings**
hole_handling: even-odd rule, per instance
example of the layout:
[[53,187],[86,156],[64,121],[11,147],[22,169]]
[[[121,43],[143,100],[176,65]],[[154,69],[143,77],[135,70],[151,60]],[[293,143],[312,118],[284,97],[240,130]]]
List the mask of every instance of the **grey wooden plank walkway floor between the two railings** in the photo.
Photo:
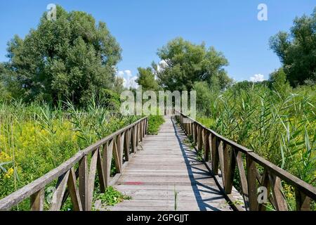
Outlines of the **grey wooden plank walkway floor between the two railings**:
[[[108,210],[232,210],[205,165],[170,117],[157,136],[147,135],[114,185],[131,200]],[[175,197],[176,195],[176,197]]]

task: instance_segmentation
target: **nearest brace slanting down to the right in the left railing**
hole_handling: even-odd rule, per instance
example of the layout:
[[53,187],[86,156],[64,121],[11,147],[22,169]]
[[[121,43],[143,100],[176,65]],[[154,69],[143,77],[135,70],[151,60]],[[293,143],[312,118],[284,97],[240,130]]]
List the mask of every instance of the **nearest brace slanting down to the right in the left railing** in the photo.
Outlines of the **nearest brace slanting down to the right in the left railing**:
[[68,186],[70,198],[72,200],[72,206],[74,208],[74,211],[82,211],[80,195],[77,188],[77,178],[76,178],[76,174],[74,173],[74,168],[70,169],[67,186]]

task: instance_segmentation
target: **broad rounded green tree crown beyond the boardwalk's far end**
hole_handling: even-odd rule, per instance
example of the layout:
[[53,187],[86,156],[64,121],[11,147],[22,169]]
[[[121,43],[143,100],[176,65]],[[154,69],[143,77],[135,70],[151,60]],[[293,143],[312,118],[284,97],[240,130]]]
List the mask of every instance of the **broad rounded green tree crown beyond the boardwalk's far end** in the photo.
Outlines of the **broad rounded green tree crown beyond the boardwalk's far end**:
[[232,82],[224,70],[228,60],[213,47],[206,49],[205,44],[176,38],[159,49],[157,55],[166,64],[163,68],[153,65],[158,82],[165,89],[190,91],[195,82],[204,81],[210,85],[216,81],[224,89]]

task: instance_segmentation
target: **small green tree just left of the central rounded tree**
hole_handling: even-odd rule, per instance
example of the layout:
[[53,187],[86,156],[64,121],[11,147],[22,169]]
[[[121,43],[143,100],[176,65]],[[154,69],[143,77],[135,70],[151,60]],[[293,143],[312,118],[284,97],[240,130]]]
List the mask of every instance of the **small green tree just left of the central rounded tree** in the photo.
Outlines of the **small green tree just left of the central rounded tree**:
[[157,91],[159,89],[159,85],[154,79],[152,68],[137,68],[137,70],[138,78],[136,82],[142,86],[143,91]]

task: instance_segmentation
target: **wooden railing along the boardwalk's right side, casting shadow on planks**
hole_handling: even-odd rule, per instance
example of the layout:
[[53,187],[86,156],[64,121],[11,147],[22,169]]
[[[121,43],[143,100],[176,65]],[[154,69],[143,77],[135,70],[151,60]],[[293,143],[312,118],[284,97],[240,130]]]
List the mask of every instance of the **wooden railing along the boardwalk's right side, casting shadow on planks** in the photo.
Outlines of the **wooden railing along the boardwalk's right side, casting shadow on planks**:
[[[257,188],[262,186],[267,190],[268,200],[272,207],[277,211],[287,211],[288,205],[282,191],[283,181],[295,190],[296,210],[310,210],[311,200],[316,200],[314,186],[261,158],[253,150],[216,134],[215,131],[204,127],[183,113],[176,113],[176,118],[187,136],[192,136],[197,150],[204,150],[205,162],[210,164],[213,174],[218,179],[222,179],[220,183],[223,191],[232,203],[234,203],[233,181],[239,179],[241,189],[239,192],[243,197],[246,210],[266,210],[266,204],[258,201]],[[258,167],[261,167],[261,172]],[[235,177],[236,169],[238,169],[236,173],[239,174],[239,178]]]

